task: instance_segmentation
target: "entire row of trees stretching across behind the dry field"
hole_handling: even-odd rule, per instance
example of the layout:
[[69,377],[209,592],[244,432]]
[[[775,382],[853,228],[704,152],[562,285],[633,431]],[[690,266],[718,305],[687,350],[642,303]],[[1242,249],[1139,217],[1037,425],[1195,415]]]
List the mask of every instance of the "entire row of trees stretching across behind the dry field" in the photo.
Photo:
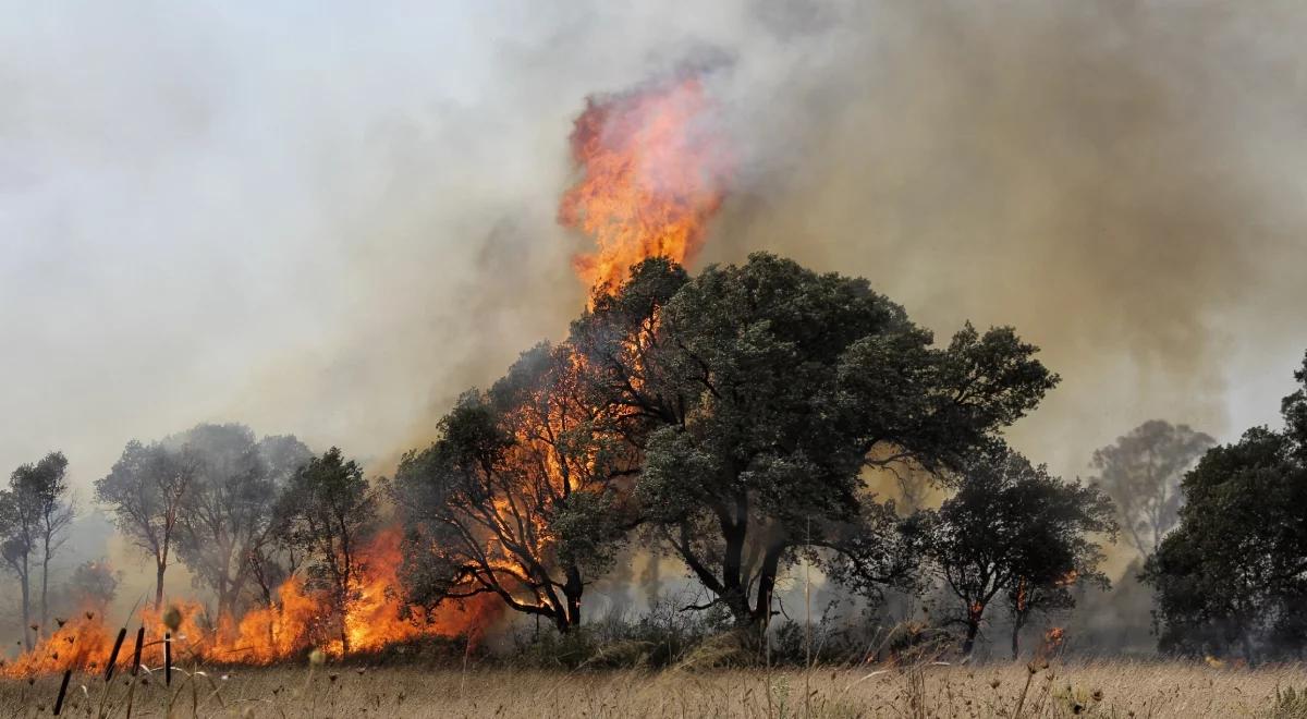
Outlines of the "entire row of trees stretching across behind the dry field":
[[[769,254],[694,277],[651,259],[596,290],[563,341],[467,391],[391,480],[370,484],[337,448],[200,425],[129,442],[95,501],[153,561],[156,604],[180,562],[220,616],[273,605],[291,574],[344,612],[359,548],[397,522],[414,604],[493,595],[567,633],[587,587],[637,548],[703,588],[685,610],[757,635],[778,580],[808,561],[873,603],[949,597],[936,621],[967,654],[1002,610],[1017,655],[1033,616],[1108,586],[1102,544],[1120,536],[1157,587],[1163,648],[1304,646],[1285,638],[1307,639],[1294,609],[1307,390],[1285,400],[1285,430],[1226,447],[1145,422],[1095,452],[1082,482],[1002,439],[1059,382],[1036,354],[1009,327],[966,324],[937,344],[865,280]],[[0,494],[25,625],[38,569],[31,624],[47,620],[48,560],[73,516],[65,471],[51,454]],[[907,502],[873,493],[873,473],[897,477]],[[927,490],[942,503],[924,506]]]

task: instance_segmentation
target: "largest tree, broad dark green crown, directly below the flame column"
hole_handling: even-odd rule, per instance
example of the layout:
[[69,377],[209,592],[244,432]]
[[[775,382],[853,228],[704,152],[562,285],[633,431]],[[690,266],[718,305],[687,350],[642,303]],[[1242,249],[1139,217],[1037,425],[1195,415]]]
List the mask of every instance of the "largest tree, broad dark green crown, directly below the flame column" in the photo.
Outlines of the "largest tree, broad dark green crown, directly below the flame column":
[[574,341],[644,454],[643,519],[740,625],[769,622],[797,548],[851,548],[865,465],[944,467],[1056,382],[1006,328],[932,346],[865,280],[755,254],[656,301],[677,281],[635,268]]

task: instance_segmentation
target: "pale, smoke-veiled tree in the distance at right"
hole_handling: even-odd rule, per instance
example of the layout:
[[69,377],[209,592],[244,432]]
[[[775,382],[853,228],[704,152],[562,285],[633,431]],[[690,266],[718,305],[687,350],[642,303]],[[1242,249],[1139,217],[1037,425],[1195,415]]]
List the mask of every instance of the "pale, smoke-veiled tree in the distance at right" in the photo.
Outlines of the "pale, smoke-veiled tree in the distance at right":
[[1094,477],[1116,503],[1124,537],[1148,558],[1180,518],[1180,478],[1216,441],[1188,425],[1150,420],[1094,452]]

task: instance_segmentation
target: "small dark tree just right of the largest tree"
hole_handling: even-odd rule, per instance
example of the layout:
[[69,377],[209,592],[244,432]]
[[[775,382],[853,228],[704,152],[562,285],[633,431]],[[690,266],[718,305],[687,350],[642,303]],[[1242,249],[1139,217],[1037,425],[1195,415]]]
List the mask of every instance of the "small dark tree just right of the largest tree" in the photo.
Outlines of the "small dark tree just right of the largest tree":
[[957,482],[958,492],[938,511],[918,515],[912,532],[945,587],[962,601],[963,654],[974,650],[985,610],[1002,592],[1019,599],[1018,610],[1026,613],[1038,607],[1031,592],[1055,591],[1073,573],[1106,586],[1098,571],[1103,557],[1089,535],[1112,533],[1116,524],[1112,503],[1099,489],[1064,482],[1001,442],[970,456]]

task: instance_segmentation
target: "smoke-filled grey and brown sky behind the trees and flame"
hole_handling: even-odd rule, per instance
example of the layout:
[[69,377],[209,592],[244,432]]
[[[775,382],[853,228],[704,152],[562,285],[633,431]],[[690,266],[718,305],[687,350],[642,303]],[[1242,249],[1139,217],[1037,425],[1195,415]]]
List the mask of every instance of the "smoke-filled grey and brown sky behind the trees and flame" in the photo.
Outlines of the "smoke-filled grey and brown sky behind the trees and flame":
[[378,5],[0,3],[0,469],[199,421],[388,469],[563,335],[571,119],[686,60],[741,157],[704,260],[1016,324],[1060,472],[1276,421],[1307,349],[1298,3]]

